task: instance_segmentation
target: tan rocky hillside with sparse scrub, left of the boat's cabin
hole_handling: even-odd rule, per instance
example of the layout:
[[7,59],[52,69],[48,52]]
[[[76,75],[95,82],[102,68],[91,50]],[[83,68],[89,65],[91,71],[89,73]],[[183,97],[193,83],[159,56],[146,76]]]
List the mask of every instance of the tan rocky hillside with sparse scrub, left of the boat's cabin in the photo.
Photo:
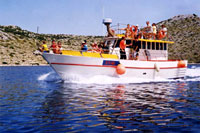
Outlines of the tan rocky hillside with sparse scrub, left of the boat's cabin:
[[63,49],[80,49],[81,42],[100,42],[102,36],[77,36],[37,34],[18,26],[0,26],[0,65],[42,65],[47,64],[40,56],[33,54],[42,41],[50,46],[52,40],[61,41]]

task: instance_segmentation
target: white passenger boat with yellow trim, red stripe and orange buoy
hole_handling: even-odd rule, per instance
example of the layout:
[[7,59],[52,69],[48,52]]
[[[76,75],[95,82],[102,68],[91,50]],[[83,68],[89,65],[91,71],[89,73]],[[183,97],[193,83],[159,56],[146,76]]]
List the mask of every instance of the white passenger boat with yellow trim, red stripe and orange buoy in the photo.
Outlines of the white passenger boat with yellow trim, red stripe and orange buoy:
[[[110,20],[107,20],[107,23],[110,24]],[[124,34],[117,34],[104,38],[105,44],[109,45],[109,53],[62,50],[62,54],[43,53],[42,56],[63,80],[72,75],[84,77],[105,75],[145,79],[185,77],[188,61],[168,60],[168,46],[173,45],[174,42],[150,39],[135,40],[127,37],[126,44],[131,43],[132,46],[138,47],[138,57],[133,59],[131,57],[133,50],[127,47],[125,49],[127,59],[120,59],[119,43],[123,36]]]

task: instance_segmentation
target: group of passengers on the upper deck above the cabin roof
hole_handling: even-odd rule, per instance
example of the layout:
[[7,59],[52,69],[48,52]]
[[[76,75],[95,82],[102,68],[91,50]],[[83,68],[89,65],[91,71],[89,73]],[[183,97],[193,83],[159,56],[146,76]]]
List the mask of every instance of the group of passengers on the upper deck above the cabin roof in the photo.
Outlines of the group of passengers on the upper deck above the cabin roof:
[[160,30],[157,30],[156,24],[152,25],[149,21],[146,21],[146,27],[139,29],[138,25],[127,24],[126,28],[121,28],[119,30],[125,30],[125,37],[133,38],[133,39],[158,39],[161,40],[167,37],[167,28],[163,24]]

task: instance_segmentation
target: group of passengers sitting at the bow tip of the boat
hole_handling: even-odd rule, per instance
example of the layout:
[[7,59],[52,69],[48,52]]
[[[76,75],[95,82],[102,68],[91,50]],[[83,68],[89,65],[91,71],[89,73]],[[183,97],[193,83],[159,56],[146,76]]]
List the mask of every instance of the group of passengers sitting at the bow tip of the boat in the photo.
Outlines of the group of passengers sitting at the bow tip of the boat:
[[48,47],[46,41],[43,41],[43,44],[40,45],[39,50],[41,52],[49,52],[52,50],[54,54],[62,54],[62,44],[60,41],[56,43],[55,40],[52,40],[51,46]]

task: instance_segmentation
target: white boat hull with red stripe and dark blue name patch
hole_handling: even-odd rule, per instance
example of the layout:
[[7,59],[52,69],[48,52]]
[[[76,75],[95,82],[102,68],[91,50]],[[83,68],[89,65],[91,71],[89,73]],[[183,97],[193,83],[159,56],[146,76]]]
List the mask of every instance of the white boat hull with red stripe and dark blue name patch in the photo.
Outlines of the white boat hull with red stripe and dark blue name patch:
[[[44,53],[43,57],[63,80],[68,75],[82,75],[84,77],[107,75],[146,79],[183,78],[187,70],[186,60],[184,61],[185,66],[179,67],[179,61],[119,60],[50,53]],[[116,72],[116,66],[119,63],[126,69],[122,75]]]

